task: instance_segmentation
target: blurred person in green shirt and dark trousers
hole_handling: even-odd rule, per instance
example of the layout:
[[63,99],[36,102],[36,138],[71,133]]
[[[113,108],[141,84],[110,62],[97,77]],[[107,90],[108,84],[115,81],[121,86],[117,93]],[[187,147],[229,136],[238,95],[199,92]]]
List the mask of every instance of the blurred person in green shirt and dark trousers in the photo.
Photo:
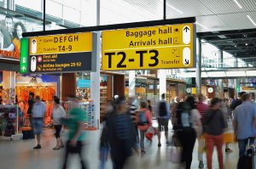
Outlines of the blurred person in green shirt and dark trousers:
[[68,155],[78,154],[80,157],[81,168],[85,169],[86,164],[84,162],[83,157],[83,148],[84,148],[84,140],[85,140],[85,132],[84,128],[84,121],[86,120],[86,112],[79,108],[79,103],[76,102],[75,96],[69,98],[69,101],[72,102],[72,110],[68,112],[68,117],[62,118],[61,122],[66,125],[69,129],[68,131],[68,140],[66,144],[65,156],[64,156],[64,163],[63,169],[67,168],[67,160]]

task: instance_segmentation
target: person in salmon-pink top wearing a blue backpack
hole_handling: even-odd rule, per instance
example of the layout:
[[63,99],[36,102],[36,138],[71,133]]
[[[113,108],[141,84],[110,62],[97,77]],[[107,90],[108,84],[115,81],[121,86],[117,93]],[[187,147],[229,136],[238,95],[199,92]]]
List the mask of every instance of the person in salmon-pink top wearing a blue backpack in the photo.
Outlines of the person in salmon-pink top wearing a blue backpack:
[[150,110],[148,110],[148,104],[142,101],[140,104],[141,110],[137,111],[137,127],[140,131],[140,146],[142,155],[146,153],[144,147],[145,133],[149,127],[152,127],[152,116]]

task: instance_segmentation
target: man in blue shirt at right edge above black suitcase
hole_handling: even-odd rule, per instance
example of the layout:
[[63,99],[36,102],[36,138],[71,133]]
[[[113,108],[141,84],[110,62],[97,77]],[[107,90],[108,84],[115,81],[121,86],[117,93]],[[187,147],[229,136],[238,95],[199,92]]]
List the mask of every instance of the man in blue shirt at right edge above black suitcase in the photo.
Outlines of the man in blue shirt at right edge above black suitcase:
[[256,133],[256,107],[249,94],[241,96],[242,104],[234,112],[233,127],[239,146],[239,156],[245,155],[247,143],[253,144]]

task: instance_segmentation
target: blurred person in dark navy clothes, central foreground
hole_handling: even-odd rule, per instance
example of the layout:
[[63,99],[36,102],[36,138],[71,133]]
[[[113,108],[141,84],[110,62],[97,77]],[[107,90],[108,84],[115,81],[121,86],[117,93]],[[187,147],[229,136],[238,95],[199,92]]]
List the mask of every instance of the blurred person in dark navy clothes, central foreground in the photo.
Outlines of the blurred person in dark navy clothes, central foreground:
[[128,157],[131,156],[132,148],[136,147],[137,138],[134,124],[127,113],[125,99],[115,101],[116,113],[110,115],[106,121],[108,128],[108,143],[114,169],[122,169]]

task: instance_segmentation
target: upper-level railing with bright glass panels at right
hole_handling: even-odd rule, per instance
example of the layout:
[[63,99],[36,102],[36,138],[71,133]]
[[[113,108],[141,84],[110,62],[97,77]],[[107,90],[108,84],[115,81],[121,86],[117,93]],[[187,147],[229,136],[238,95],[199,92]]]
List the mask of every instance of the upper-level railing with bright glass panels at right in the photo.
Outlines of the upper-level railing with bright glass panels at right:
[[256,57],[230,59],[203,59],[202,68],[256,68]]

